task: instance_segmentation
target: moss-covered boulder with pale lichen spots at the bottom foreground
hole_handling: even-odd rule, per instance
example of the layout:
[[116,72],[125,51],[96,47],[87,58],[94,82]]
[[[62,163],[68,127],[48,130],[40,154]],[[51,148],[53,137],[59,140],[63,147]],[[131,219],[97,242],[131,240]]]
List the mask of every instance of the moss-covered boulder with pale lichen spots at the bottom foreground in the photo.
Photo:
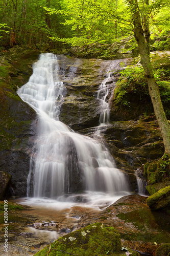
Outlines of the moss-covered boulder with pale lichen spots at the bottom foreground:
[[53,242],[50,246],[45,247],[35,255],[47,255],[49,251],[49,256],[64,256],[68,253],[79,256],[100,256],[121,252],[122,249],[118,231],[101,223],[94,223],[69,233]]

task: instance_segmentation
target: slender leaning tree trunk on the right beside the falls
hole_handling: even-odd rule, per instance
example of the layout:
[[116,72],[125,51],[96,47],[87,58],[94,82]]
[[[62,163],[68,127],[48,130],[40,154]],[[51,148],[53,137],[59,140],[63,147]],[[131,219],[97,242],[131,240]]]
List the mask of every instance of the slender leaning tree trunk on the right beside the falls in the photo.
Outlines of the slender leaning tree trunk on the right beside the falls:
[[141,65],[144,69],[144,76],[148,82],[149,94],[151,96],[155,116],[161,130],[165,154],[170,155],[170,126],[163,110],[159,87],[154,78],[150,55],[148,51],[148,38],[146,39],[144,37],[144,31],[141,25],[141,18],[137,0],[130,0],[128,2],[130,4],[130,9],[133,14],[134,35],[139,47]]

